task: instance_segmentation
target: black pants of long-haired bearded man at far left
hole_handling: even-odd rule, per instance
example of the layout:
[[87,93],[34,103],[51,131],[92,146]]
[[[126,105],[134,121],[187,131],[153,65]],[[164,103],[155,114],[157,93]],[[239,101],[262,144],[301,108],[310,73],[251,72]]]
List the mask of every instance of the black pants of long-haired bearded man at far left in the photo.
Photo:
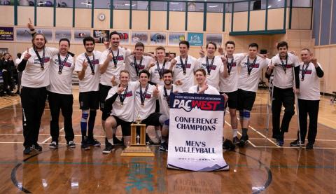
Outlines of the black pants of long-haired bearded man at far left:
[[22,87],[22,125],[25,142],[23,146],[29,147],[37,144],[41,118],[44,111],[47,90],[43,88]]

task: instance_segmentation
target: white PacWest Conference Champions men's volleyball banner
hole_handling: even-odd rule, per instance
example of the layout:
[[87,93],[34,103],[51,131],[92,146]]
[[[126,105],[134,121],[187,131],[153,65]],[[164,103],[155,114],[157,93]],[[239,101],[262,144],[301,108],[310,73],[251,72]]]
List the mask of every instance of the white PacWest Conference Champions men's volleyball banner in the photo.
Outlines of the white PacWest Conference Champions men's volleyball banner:
[[173,93],[170,97],[167,167],[228,170],[222,147],[223,96]]

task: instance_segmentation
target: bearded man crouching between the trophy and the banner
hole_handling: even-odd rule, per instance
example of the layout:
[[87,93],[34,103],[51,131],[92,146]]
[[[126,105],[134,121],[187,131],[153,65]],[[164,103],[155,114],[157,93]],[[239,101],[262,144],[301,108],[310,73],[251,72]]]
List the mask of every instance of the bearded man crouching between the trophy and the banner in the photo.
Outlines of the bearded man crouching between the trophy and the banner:
[[160,104],[161,116],[159,119],[162,125],[160,151],[168,151],[170,95],[172,92],[182,92],[182,90],[178,85],[173,84],[173,72],[171,70],[164,69],[162,78],[164,85],[157,85],[153,95],[158,98]]

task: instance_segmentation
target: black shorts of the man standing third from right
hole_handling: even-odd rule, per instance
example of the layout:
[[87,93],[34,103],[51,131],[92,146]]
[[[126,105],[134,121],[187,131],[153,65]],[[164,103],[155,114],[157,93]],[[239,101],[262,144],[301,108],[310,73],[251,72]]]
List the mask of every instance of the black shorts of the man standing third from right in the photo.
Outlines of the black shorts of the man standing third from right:
[[254,101],[255,101],[255,92],[250,92],[246,90],[238,89],[238,106],[239,111],[248,110],[251,111]]

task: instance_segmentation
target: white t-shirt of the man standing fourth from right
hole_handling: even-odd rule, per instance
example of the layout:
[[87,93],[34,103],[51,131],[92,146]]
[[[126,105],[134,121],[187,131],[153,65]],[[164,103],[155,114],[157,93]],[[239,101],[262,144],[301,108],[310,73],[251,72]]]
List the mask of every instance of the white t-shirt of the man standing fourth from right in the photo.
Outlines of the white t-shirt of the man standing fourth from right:
[[[244,59],[246,54],[238,53],[233,55],[232,58],[228,58],[228,62],[232,62],[232,68],[228,78],[224,78],[223,74],[219,76],[219,91],[221,92],[235,92],[238,90],[238,67],[240,67],[241,60]],[[227,64],[224,64],[227,65]],[[221,68],[221,72],[224,71],[224,67]]]

